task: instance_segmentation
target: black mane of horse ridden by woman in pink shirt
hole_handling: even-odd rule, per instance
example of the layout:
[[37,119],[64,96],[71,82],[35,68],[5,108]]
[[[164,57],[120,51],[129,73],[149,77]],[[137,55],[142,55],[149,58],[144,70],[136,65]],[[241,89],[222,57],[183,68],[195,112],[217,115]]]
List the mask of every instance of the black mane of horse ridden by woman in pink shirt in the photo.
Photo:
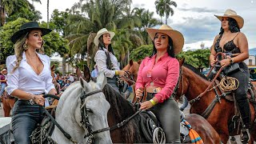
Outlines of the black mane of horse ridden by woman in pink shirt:
[[[117,122],[122,122],[135,113],[134,106],[123,98],[122,94],[114,90],[110,84],[106,84],[102,91],[103,94],[105,94],[106,101],[110,103],[109,113],[116,116],[115,119]],[[139,131],[140,127],[138,125],[139,120],[140,119],[136,116],[121,127],[122,134],[120,135],[126,138],[125,143],[142,142]]]

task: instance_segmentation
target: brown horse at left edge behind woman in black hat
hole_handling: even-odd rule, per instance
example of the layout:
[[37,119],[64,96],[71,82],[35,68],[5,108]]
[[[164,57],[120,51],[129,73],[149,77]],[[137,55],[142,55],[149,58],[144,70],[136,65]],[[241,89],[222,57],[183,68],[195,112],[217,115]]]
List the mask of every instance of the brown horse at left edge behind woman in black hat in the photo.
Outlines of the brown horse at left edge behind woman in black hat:
[[8,95],[6,91],[2,94],[2,107],[5,117],[10,117],[10,110],[14,107],[15,98]]

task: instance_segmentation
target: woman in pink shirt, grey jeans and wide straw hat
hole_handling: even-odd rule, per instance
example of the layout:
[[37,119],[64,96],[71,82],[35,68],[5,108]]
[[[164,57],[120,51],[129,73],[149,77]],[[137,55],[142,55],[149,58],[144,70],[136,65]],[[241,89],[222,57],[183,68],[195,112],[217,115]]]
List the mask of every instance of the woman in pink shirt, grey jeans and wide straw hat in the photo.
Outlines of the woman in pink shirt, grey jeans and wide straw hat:
[[171,97],[179,77],[179,63],[175,54],[182,51],[183,35],[170,26],[147,29],[154,42],[153,53],[144,58],[136,82],[136,97],[142,97],[146,90],[147,101],[141,103],[141,110],[150,109],[162,124],[166,142],[180,142],[178,104]]

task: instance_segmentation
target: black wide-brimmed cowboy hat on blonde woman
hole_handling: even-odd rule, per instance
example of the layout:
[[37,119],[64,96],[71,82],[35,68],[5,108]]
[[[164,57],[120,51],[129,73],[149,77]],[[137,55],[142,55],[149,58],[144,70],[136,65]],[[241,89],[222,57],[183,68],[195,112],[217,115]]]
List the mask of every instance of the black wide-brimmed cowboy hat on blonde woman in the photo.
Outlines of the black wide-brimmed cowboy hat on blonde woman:
[[22,37],[22,35],[25,35],[30,30],[41,30],[42,36],[49,34],[52,31],[50,29],[40,27],[38,25],[38,22],[27,22],[21,26],[20,30],[18,30],[16,33],[14,33],[11,36],[11,42],[16,43],[18,41],[18,39]]

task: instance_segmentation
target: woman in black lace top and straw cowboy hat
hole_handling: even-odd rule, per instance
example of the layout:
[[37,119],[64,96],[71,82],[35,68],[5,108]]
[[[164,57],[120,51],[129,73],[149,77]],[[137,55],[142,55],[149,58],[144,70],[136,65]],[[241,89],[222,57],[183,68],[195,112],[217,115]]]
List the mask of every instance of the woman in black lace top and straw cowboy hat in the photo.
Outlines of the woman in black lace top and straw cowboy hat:
[[243,62],[249,58],[248,42],[246,35],[240,32],[244,24],[244,20],[234,10],[226,10],[224,15],[215,15],[221,21],[221,31],[215,37],[214,44],[211,48],[210,65],[216,64],[215,54],[218,52],[231,53],[236,56],[231,56],[220,61],[222,67],[230,66],[232,63],[238,63],[240,70],[234,73],[227,74],[230,77],[237,78],[239,86],[234,90],[235,98],[238,102],[238,109],[242,116],[243,130],[241,140],[246,142],[249,135],[246,132],[250,127],[250,106],[246,93],[249,83],[249,70]]

